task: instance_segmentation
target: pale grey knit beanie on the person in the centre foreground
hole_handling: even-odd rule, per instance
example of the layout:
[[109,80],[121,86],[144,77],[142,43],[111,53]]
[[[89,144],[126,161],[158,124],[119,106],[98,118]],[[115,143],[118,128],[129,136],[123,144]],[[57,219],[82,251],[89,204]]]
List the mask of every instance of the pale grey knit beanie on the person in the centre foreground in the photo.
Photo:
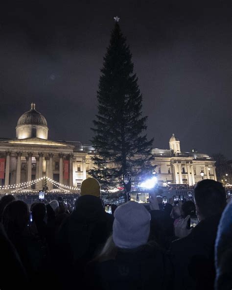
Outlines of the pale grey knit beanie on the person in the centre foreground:
[[128,201],[115,211],[113,241],[119,248],[133,249],[148,241],[151,215],[135,201]]

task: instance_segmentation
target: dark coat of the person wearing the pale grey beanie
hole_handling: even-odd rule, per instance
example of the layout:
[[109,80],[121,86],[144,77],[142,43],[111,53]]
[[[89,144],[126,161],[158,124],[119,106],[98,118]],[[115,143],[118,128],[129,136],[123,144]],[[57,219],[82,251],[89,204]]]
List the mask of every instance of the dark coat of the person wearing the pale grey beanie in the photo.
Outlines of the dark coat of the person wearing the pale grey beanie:
[[154,244],[136,249],[117,249],[116,258],[90,264],[92,276],[87,289],[169,290],[173,269],[169,258]]

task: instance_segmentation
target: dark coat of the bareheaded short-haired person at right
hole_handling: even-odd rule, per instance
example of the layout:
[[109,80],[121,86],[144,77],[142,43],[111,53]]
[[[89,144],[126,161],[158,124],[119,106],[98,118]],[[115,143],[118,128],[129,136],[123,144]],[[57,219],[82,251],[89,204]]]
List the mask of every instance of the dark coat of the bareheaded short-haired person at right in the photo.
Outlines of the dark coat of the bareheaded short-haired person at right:
[[214,244],[221,214],[199,222],[183,239],[171,243],[175,290],[213,290]]

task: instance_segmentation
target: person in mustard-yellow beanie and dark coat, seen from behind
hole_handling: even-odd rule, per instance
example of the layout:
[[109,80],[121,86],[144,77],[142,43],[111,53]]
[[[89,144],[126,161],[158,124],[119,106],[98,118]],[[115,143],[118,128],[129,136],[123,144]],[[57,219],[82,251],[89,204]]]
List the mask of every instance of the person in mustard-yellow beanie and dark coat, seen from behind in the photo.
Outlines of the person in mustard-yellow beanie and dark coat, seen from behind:
[[80,194],[56,237],[56,265],[63,289],[69,289],[76,278],[81,283],[86,265],[104,245],[113,227],[114,217],[105,212],[100,184],[95,178],[82,182]]

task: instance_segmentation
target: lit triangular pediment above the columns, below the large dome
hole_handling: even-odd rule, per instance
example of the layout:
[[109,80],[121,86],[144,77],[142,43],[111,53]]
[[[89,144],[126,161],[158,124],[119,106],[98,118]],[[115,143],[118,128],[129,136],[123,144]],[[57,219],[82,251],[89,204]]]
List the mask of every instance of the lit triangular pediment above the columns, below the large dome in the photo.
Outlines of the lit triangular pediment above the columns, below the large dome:
[[20,145],[44,145],[44,146],[63,146],[72,147],[65,143],[56,142],[52,140],[45,140],[41,138],[26,138],[26,139],[13,139],[7,141],[1,141],[0,144],[20,144]]

